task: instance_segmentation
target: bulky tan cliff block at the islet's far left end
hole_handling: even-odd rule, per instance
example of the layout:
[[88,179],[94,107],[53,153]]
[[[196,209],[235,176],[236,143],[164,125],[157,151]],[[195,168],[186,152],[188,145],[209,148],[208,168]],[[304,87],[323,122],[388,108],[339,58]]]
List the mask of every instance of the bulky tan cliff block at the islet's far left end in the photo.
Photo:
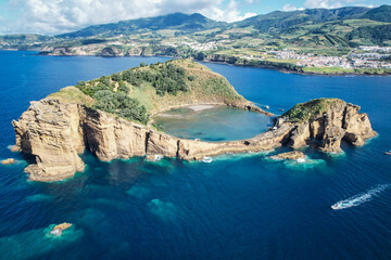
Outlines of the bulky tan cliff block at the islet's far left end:
[[79,105],[56,100],[31,102],[18,121],[13,121],[16,146],[36,160],[26,172],[34,181],[54,181],[83,171],[78,153],[84,152],[83,116]]

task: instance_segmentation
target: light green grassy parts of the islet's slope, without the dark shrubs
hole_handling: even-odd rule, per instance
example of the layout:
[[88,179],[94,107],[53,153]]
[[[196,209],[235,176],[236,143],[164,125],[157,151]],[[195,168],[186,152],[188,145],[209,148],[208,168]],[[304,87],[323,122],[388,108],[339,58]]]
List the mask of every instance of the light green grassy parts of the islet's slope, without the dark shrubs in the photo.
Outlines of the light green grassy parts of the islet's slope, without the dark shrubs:
[[[163,96],[156,94],[155,89],[150,82],[143,81],[140,87],[128,84],[130,88],[129,96],[136,99],[143,105],[150,114],[167,109],[172,106],[186,104],[206,104],[218,103],[227,105],[242,106],[249,103],[243,96],[238,94],[228,80],[223,76],[213,73],[207,67],[192,62],[190,60],[175,60],[167,63],[174,63],[186,70],[186,83],[189,87],[187,92],[179,91],[177,95],[165,93]],[[166,65],[166,64],[164,64]],[[155,65],[159,66],[164,66]],[[153,69],[150,66],[138,67],[135,69]],[[188,77],[193,76],[190,80]],[[88,81],[87,84],[96,84],[98,80]],[[87,106],[93,104],[93,99],[84,94],[75,87],[67,87],[59,92],[50,94],[48,98],[56,98],[67,103],[79,103]]]

